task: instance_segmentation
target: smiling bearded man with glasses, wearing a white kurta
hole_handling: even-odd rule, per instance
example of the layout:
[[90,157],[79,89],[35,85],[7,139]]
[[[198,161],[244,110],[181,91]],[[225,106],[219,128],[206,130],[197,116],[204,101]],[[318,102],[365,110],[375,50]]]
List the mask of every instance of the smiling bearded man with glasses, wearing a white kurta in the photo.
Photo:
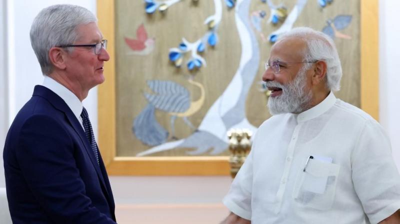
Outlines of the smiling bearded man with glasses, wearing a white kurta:
[[[318,41],[330,52],[318,54]],[[223,199],[232,212],[224,223],[400,223],[389,139],[371,116],[334,96],[335,59],[334,43],[309,28],[272,47],[263,80],[275,115],[258,128]]]

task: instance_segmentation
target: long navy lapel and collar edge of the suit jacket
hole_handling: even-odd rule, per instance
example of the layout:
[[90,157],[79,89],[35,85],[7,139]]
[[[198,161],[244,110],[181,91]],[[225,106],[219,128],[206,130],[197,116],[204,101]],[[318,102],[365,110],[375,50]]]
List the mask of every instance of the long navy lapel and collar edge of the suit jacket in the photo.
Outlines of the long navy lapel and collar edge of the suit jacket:
[[[102,172],[100,170],[100,167],[97,164],[97,160],[91,149],[89,140],[87,139],[82,126],[80,125],[79,121],[76,119],[76,116],[73,114],[72,110],[68,107],[68,105],[65,103],[65,101],[61,97],[59,97],[53,91],[51,91],[50,89],[48,89],[44,86],[36,85],[33,90],[33,95],[38,95],[38,96],[46,98],[54,107],[56,107],[57,109],[59,109],[65,113],[66,117],[68,118],[69,123],[71,124],[73,129],[76,131],[76,133],[79,135],[80,140],[82,141],[82,144],[84,145],[84,149],[86,150],[86,153],[89,156],[90,161],[94,166],[94,169],[96,170],[96,173],[100,180],[100,183],[103,185],[103,187],[105,189],[106,196],[109,197],[108,189],[104,182],[104,178],[103,178]],[[98,151],[98,153],[100,153],[100,151]]]

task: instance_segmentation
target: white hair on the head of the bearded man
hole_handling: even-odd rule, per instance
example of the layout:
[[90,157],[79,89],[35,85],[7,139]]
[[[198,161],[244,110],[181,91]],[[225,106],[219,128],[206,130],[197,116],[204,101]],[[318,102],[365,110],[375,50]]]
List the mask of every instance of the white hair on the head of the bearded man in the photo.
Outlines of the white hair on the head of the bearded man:
[[[288,37],[299,37],[307,43],[304,60],[322,60],[326,63],[326,85],[332,91],[340,89],[342,75],[339,55],[333,40],[323,32],[309,27],[296,27],[279,36],[278,41]],[[277,41],[277,42],[278,42]],[[304,67],[310,64],[304,64]]]

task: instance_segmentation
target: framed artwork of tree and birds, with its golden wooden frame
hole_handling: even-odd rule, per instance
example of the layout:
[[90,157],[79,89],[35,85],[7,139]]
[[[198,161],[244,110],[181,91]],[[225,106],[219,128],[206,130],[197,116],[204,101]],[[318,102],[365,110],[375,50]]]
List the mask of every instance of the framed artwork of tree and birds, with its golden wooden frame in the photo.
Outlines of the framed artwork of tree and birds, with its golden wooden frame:
[[270,115],[260,82],[283,32],[330,35],[338,98],[378,117],[377,0],[97,0],[110,60],[98,142],[111,175],[228,175],[230,128]]

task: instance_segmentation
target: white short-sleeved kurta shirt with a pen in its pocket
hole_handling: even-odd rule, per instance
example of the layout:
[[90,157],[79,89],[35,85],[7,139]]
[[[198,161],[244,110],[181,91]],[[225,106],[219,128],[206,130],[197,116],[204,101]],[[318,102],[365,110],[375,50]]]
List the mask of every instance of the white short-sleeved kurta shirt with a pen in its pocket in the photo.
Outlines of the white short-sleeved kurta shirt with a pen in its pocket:
[[261,124],[223,203],[252,224],[377,223],[400,209],[400,176],[381,126],[330,92]]

